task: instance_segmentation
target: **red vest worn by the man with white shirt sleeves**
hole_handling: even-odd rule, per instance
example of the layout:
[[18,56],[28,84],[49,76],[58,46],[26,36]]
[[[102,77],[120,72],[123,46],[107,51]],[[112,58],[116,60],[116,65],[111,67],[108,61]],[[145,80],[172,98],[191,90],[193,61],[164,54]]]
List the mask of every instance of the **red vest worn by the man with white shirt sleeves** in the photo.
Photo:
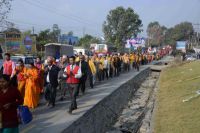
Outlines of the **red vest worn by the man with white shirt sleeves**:
[[73,69],[72,73],[73,75],[70,74],[70,65],[67,66],[67,83],[68,84],[78,84],[79,79],[75,78],[75,75],[78,73],[79,66],[75,66]]

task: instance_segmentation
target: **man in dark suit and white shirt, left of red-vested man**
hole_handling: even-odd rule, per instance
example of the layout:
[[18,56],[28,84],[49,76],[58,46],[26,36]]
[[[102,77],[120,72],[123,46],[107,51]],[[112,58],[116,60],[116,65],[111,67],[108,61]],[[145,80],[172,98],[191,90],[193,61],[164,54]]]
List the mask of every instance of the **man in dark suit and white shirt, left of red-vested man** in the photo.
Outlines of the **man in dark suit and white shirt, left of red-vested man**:
[[53,58],[47,58],[47,66],[45,67],[45,99],[47,100],[47,105],[50,104],[52,107],[55,106],[56,100],[56,88],[58,86],[58,72],[59,68],[53,64]]

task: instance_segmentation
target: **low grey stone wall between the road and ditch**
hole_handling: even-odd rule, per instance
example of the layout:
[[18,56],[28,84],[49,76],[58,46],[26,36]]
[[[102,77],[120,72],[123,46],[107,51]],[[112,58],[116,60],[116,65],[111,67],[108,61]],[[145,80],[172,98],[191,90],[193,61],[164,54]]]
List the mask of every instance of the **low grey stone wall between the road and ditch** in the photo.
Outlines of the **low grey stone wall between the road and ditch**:
[[146,68],[131,80],[116,88],[113,93],[67,127],[63,133],[104,133],[108,131],[150,72],[150,68]]

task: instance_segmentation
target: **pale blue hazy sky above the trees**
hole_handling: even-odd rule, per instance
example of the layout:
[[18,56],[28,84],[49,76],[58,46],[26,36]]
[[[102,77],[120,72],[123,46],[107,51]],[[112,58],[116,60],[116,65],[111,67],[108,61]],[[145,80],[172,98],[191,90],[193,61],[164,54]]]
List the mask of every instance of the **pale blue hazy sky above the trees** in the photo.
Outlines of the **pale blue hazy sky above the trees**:
[[14,0],[8,21],[35,33],[58,24],[62,33],[103,36],[102,24],[111,9],[131,7],[140,16],[143,33],[152,21],[172,27],[180,22],[200,23],[200,0]]

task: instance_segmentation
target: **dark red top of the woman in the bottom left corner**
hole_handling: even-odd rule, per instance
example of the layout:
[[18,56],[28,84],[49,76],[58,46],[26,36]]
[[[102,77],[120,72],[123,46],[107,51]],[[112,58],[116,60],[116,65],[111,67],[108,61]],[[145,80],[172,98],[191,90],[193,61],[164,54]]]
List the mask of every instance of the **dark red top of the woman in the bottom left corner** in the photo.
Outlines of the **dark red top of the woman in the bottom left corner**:
[[[10,87],[6,93],[0,91],[0,101],[3,128],[17,127],[17,106],[23,104],[20,92],[16,87]],[[7,103],[11,103],[11,106],[8,109],[4,109],[3,106]]]

